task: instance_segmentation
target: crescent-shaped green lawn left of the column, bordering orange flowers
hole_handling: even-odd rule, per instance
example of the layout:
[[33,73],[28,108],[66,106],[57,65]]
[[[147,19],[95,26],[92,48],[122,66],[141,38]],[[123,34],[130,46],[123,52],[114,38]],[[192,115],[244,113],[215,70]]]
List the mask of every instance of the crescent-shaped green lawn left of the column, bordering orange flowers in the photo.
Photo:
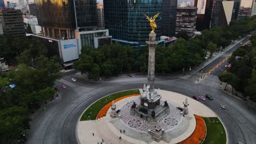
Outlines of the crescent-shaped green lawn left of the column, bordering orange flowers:
[[[96,101],[93,105],[91,105],[84,113],[83,116],[81,117],[80,121],[89,121],[96,119],[98,112],[107,105],[110,101],[115,100],[120,97],[124,97],[126,95],[130,94],[139,94],[138,89],[132,89],[129,91],[123,91],[123,92],[118,92],[114,94],[110,94],[107,97],[104,97],[98,101]],[[108,99],[108,100],[107,100]],[[89,116],[90,114],[90,116]]]

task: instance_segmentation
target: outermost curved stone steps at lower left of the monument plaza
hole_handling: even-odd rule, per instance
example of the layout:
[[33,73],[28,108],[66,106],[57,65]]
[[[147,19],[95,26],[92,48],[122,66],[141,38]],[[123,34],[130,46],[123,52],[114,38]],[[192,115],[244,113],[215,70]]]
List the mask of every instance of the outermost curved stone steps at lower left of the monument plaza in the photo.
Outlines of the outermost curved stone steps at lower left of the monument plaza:
[[119,136],[115,135],[108,127],[108,124],[104,119],[100,119],[96,122],[97,134],[104,140],[104,143],[112,144],[133,144],[132,142],[124,139],[119,140]]

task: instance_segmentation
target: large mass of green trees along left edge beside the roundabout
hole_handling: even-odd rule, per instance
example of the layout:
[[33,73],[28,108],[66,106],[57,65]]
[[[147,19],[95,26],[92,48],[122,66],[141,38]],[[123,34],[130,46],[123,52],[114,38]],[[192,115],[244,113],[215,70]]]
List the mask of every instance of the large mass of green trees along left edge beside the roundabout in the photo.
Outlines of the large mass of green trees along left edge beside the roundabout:
[[[61,65],[58,57],[46,57],[48,51],[38,41],[10,35],[0,35],[0,40],[0,57],[18,60],[18,67],[0,74],[0,143],[11,143],[30,128],[27,114],[54,96]],[[36,59],[36,69],[29,67],[31,59]]]

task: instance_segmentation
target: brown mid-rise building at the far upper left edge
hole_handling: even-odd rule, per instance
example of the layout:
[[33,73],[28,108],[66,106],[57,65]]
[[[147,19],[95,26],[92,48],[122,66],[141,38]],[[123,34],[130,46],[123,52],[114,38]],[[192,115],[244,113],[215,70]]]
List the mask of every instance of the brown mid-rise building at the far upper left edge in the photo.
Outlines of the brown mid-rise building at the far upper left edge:
[[25,35],[22,13],[18,9],[0,9],[0,20],[3,27],[3,33],[20,37]]

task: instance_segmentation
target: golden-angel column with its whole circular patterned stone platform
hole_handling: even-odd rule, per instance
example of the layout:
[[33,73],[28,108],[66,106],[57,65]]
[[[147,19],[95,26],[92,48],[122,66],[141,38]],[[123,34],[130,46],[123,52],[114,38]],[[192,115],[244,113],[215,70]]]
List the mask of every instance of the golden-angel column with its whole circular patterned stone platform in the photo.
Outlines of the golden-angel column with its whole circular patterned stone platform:
[[[129,136],[128,131],[130,131],[130,136],[139,133],[141,137],[144,137],[140,139],[146,143],[150,143],[151,139],[158,142],[161,140],[170,142],[171,139],[185,133],[191,119],[191,116],[188,116],[187,99],[185,99],[183,107],[177,107],[167,101],[162,101],[159,89],[154,89],[155,48],[158,44],[158,41],[155,40],[154,30],[156,28],[155,19],[158,15],[154,15],[153,18],[145,15],[152,28],[149,33],[149,41],[146,41],[149,47],[148,85],[144,84],[139,99],[128,101],[119,110],[116,110],[117,106],[112,101],[110,112],[110,117],[113,118],[110,123],[114,124],[117,129],[129,128],[125,135]],[[121,126],[123,124],[126,126]],[[148,137],[148,134],[152,137]]]

